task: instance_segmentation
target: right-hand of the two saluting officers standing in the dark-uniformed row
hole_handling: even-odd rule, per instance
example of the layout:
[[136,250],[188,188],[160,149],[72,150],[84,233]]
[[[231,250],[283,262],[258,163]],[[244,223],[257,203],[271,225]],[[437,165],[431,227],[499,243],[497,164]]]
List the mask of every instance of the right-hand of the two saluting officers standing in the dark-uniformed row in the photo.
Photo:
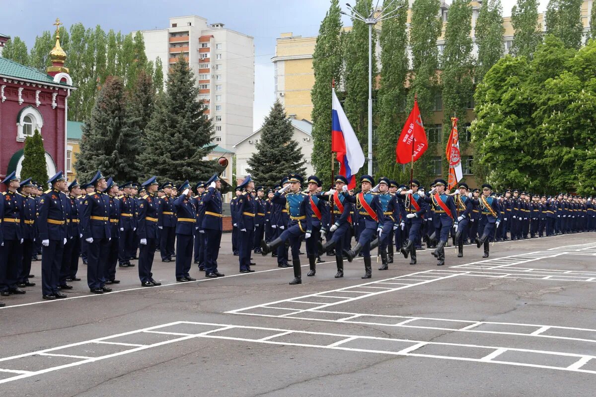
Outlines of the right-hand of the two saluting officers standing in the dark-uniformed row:
[[205,182],[208,186],[207,193],[203,196],[201,205],[204,206],[204,216],[201,227],[204,230],[205,240],[205,276],[223,277],[225,274],[218,271],[219,245],[222,239],[224,224],[222,220],[222,195],[221,180],[214,174]]

